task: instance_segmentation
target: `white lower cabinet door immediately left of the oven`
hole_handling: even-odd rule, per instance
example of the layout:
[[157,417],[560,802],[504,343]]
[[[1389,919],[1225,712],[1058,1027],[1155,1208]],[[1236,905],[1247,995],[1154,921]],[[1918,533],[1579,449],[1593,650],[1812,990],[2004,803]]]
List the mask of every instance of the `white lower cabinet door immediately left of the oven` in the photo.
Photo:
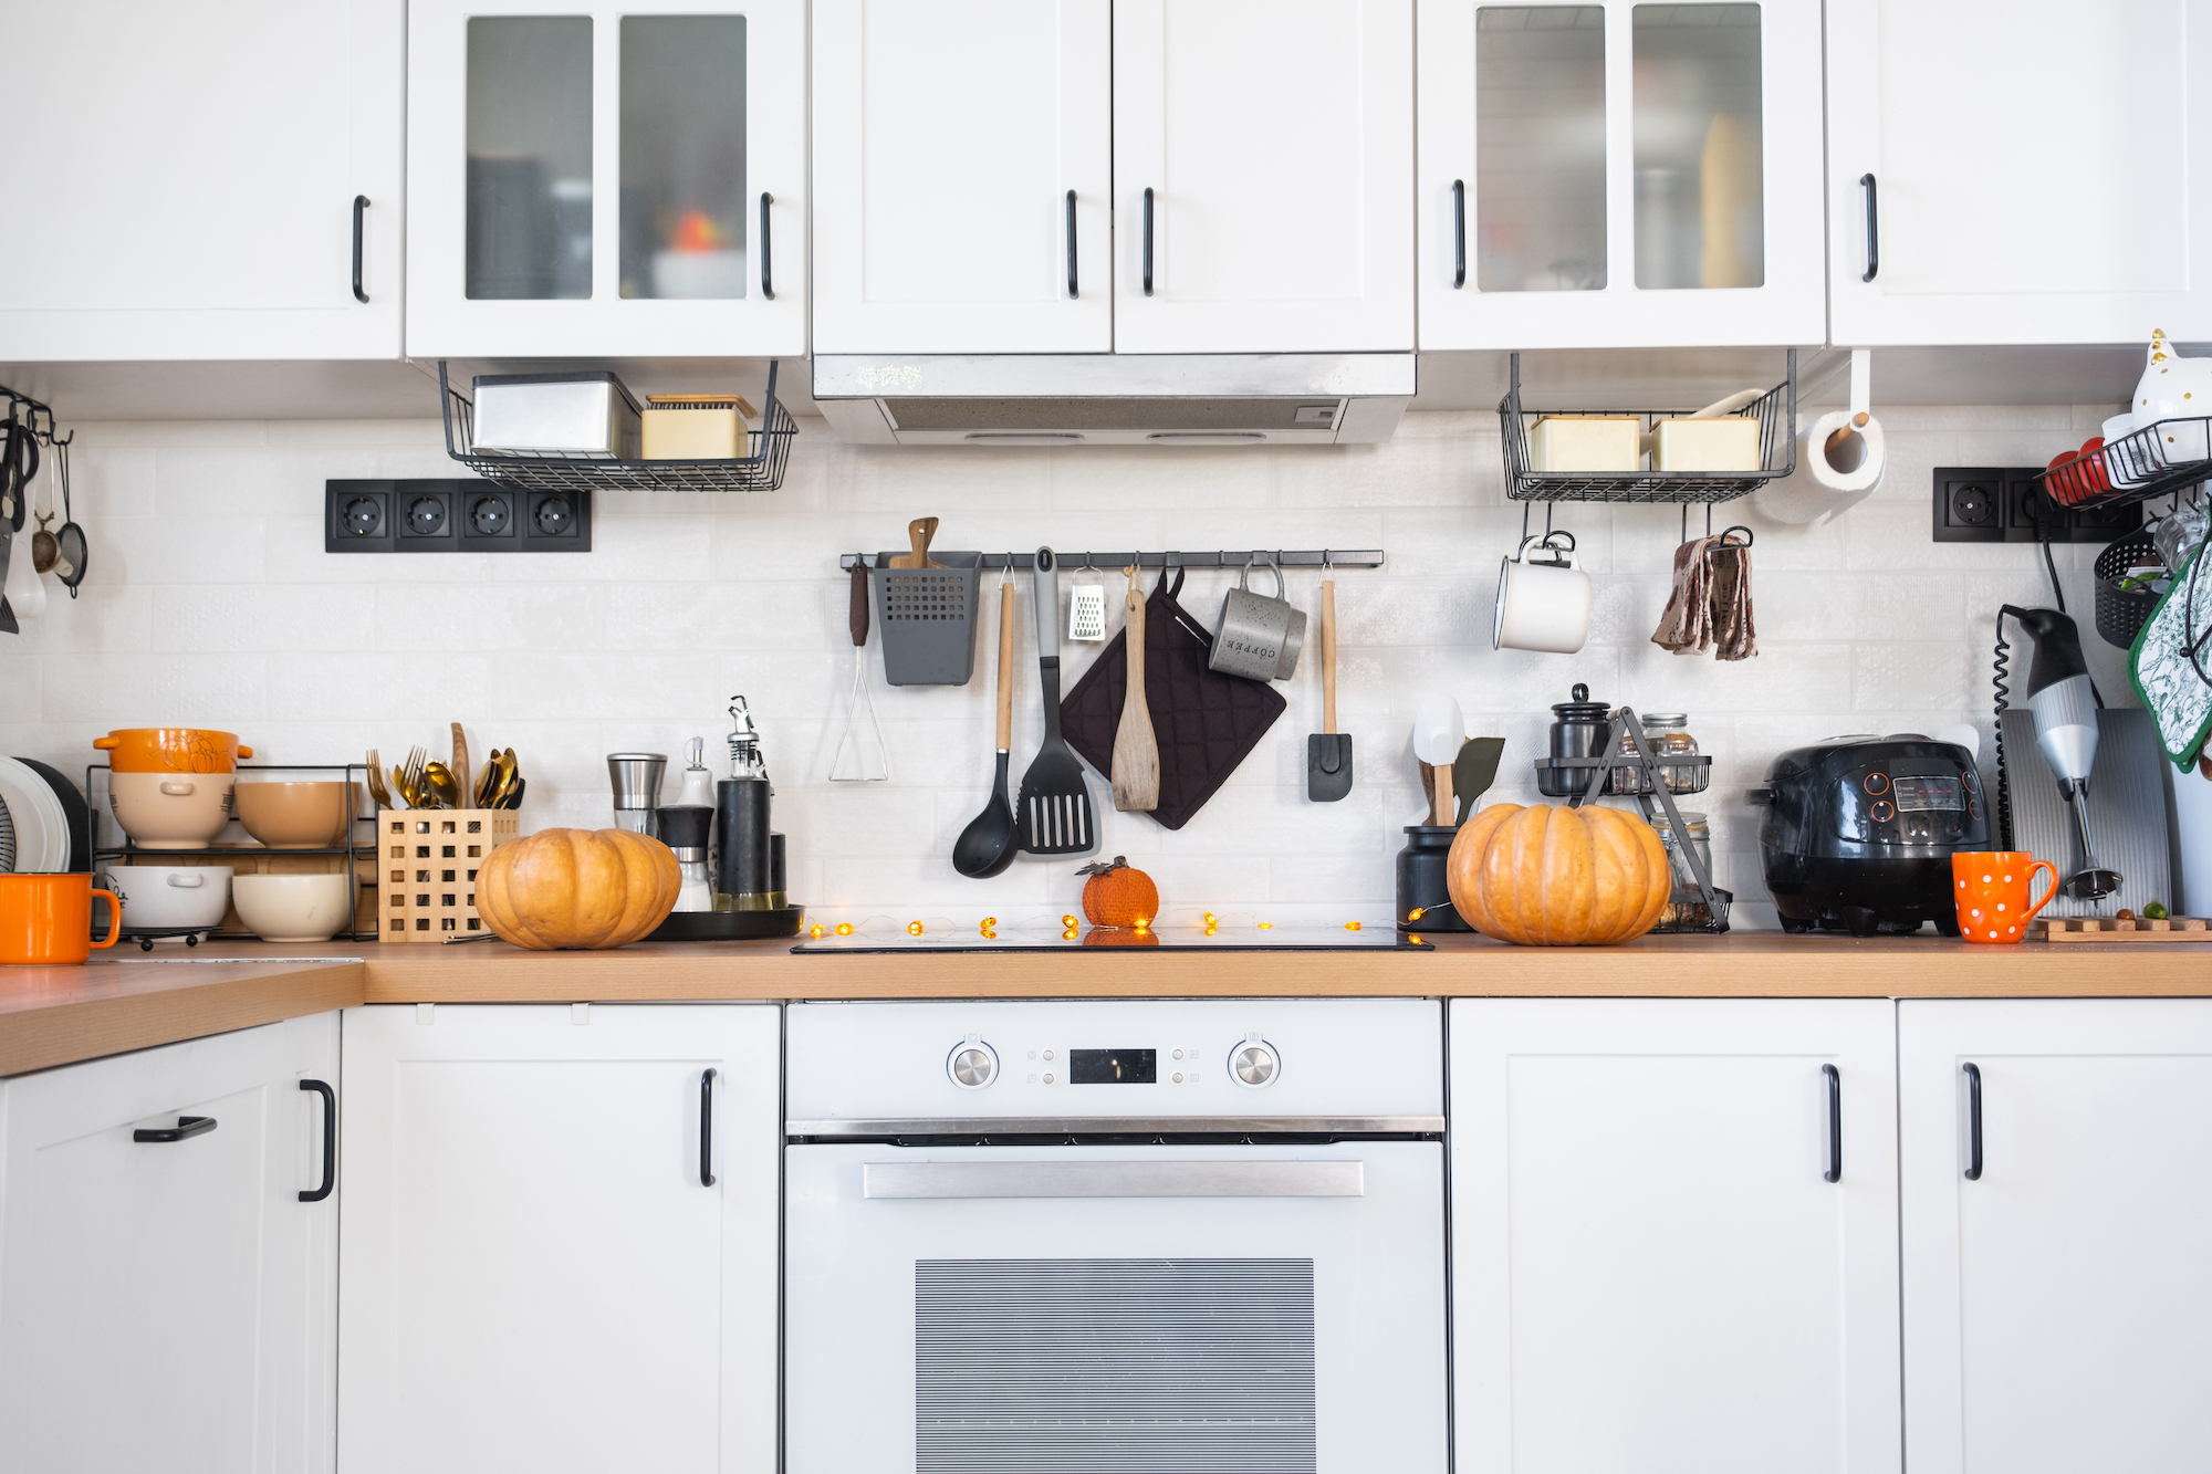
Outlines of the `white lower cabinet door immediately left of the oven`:
[[347,1474],[776,1467],[781,1009],[363,1007],[345,1062]]

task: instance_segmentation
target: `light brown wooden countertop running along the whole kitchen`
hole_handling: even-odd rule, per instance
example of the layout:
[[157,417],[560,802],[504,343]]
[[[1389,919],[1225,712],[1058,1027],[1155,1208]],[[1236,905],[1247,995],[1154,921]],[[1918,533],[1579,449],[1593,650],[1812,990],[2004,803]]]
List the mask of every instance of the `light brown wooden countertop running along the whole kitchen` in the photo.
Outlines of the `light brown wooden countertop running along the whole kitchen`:
[[[1626,947],[1436,952],[814,954],[776,943],[206,943],[184,961],[0,967],[0,1076],[356,1003],[675,1003],[792,998],[2126,998],[2212,996],[2212,943],[2022,943],[1936,936],[1646,936]],[[161,958],[161,961],[155,961]]]

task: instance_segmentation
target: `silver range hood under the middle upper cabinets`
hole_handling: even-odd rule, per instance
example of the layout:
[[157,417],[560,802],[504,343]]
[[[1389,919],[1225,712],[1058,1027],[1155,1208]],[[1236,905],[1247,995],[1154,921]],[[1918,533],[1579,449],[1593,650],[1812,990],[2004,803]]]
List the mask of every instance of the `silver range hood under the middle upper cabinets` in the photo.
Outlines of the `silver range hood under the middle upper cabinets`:
[[856,445],[1389,440],[1413,354],[823,354],[814,403]]

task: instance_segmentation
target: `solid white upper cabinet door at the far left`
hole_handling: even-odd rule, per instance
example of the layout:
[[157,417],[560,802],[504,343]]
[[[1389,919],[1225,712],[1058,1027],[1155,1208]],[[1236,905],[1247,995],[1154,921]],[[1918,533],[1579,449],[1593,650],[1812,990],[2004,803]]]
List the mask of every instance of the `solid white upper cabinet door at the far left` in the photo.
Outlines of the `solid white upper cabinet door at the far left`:
[[398,359],[403,35],[403,0],[9,7],[0,361]]

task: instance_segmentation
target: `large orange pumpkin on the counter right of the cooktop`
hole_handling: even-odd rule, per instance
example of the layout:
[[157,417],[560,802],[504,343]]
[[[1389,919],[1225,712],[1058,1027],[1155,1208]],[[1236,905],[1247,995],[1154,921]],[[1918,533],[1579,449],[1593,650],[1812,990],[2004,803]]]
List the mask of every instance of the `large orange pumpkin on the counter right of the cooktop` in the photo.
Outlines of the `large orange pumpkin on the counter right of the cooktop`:
[[1533,947],[1644,936],[1672,876],[1659,830],[1617,808],[1493,803],[1451,841],[1444,885],[1467,925]]

